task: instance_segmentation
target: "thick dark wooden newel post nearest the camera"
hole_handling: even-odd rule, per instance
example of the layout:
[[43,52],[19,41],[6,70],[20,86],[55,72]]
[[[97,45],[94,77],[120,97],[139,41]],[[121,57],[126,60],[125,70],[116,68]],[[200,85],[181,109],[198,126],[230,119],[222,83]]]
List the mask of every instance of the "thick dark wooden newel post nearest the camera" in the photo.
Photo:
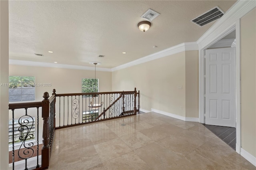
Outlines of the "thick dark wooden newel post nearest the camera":
[[43,147],[42,147],[42,169],[48,168],[50,162],[50,146],[49,146],[49,113],[50,101],[49,93],[44,92],[42,100],[42,118],[43,118]]

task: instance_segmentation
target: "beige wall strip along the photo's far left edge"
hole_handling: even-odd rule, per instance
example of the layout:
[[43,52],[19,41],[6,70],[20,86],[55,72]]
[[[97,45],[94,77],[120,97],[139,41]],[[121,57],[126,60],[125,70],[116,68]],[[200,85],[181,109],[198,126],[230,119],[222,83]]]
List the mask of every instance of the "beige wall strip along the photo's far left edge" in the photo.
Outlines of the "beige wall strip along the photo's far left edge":
[[[0,84],[8,83],[8,1],[0,1]],[[8,86],[0,86],[0,169],[8,169]]]

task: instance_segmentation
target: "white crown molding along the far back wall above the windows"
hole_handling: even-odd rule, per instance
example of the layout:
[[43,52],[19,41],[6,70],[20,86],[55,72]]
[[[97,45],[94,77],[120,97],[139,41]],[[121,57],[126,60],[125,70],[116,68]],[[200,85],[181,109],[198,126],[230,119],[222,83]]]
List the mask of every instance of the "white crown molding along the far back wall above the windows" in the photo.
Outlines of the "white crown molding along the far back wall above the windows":
[[[15,60],[9,59],[9,64],[13,65],[26,65],[26,66],[36,66],[36,67],[56,67],[56,68],[64,68],[64,69],[78,69],[78,70],[95,70],[95,67],[88,67],[82,65],[68,65],[68,64],[58,64],[58,63],[44,63],[37,61],[23,61],[23,60]],[[108,68],[96,67],[97,71],[110,71]]]

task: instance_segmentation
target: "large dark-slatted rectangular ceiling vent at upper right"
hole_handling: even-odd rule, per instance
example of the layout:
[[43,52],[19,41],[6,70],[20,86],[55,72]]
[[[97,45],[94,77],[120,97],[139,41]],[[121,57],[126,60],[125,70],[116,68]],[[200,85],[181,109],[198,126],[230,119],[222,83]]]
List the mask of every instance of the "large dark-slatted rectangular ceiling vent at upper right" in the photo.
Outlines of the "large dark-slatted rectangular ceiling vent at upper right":
[[218,6],[216,6],[216,7],[212,8],[211,10],[204,12],[204,14],[202,14],[190,21],[194,22],[198,26],[202,27],[206,24],[209,24],[210,22],[218,20],[223,15],[224,15],[224,12]]

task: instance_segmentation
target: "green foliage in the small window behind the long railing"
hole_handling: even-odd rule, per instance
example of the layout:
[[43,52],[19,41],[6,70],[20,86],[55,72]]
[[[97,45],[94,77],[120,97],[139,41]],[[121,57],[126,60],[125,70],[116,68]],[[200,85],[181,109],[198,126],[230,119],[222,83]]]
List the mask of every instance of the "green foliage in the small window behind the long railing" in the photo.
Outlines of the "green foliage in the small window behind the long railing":
[[94,93],[98,92],[99,79],[86,79],[82,78],[82,93]]

